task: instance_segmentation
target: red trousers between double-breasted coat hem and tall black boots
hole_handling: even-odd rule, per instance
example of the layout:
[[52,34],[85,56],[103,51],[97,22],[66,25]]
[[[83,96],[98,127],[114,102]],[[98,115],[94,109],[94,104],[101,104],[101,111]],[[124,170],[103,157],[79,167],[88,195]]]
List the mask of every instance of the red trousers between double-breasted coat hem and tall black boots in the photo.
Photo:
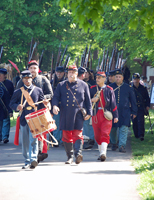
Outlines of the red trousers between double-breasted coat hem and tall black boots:
[[75,143],[76,140],[82,140],[83,143],[83,135],[82,130],[71,130],[71,131],[63,131],[62,141],[67,143]]

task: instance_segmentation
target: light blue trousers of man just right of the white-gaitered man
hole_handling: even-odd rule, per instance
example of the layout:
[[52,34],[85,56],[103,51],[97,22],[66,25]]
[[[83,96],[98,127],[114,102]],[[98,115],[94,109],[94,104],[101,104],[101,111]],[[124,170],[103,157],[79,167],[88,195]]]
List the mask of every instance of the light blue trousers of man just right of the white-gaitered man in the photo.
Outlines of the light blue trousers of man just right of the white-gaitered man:
[[[117,130],[119,129],[119,136]],[[119,139],[119,148],[123,146],[126,147],[128,135],[128,126],[122,125],[121,127],[113,127],[110,132],[110,141],[112,144],[117,144],[117,139]]]

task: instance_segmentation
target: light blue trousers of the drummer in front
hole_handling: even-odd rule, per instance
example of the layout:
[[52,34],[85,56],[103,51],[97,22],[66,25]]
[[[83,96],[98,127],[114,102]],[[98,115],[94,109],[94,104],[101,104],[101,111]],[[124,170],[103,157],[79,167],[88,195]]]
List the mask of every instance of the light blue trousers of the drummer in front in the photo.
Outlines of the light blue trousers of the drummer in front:
[[25,158],[25,164],[30,164],[33,161],[37,161],[38,156],[38,139],[33,138],[30,132],[28,124],[21,126],[22,132],[22,153]]

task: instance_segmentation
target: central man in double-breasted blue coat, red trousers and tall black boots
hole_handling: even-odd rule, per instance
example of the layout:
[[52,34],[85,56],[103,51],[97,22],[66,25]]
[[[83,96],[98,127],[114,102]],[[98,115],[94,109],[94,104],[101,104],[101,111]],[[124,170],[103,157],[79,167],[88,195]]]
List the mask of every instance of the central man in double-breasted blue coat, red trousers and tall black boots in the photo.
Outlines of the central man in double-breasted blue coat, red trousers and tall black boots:
[[[77,79],[78,69],[75,65],[68,67],[68,80],[58,84],[52,100],[53,113],[60,111],[60,130],[63,131],[62,141],[68,160],[66,164],[73,162],[73,148],[76,157],[76,164],[82,159],[83,121],[88,120],[92,115],[92,105],[89,88],[86,83]],[[61,102],[60,108],[58,107]],[[87,116],[83,117],[81,108],[86,108]]]

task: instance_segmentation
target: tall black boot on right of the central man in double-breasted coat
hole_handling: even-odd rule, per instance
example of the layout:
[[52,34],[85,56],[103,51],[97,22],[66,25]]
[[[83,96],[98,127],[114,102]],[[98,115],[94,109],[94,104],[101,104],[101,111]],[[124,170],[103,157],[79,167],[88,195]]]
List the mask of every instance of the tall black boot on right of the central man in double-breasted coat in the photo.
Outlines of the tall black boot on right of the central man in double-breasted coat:
[[74,154],[76,157],[76,164],[79,164],[82,160],[83,160],[83,156],[82,156],[82,140],[76,140],[75,144],[74,144]]

